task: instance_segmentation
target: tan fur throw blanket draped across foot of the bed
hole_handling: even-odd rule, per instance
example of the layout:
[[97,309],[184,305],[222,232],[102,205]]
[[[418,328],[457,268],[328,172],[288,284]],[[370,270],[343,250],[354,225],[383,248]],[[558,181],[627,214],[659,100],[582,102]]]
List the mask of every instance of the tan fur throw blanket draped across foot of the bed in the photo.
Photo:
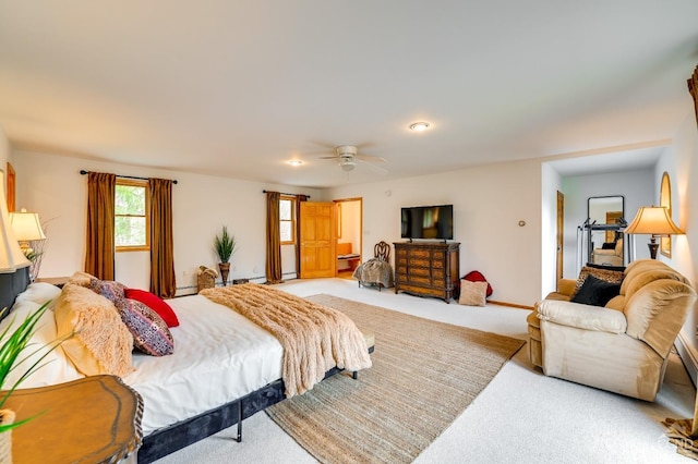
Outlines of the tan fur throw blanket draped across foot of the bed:
[[310,390],[335,366],[354,371],[371,367],[364,338],[344,313],[256,283],[206,289],[201,294],[278,339],[287,398]]

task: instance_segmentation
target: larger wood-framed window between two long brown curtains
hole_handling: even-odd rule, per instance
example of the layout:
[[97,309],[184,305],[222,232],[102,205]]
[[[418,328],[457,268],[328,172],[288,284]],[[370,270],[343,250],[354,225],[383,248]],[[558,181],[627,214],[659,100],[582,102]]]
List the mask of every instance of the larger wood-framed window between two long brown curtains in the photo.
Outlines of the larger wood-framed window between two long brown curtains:
[[117,252],[151,249],[148,183],[117,179],[115,241]]

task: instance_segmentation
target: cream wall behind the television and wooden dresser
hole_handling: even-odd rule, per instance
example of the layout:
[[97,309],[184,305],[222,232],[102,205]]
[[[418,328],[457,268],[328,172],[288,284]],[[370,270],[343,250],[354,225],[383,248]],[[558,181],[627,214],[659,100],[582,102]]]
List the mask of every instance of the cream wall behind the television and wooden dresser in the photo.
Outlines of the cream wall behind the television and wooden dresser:
[[[382,240],[401,241],[401,207],[453,204],[461,277],[481,271],[495,301],[531,306],[541,297],[540,160],[346,185],[324,195],[363,198],[364,257],[373,256]],[[520,220],[526,227],[518,225]]]

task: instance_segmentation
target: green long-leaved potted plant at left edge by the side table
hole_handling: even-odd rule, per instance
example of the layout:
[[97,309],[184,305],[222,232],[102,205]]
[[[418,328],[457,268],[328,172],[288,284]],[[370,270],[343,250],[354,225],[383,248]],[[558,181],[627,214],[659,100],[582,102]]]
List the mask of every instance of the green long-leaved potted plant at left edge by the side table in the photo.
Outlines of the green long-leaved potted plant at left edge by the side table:
[[[17,367],[13,367],[13,365],[17,362],[17,358],[22,354],[22,352],[29,345],[29,340],[36,332],[36,325],[48,309],[48,305],[50,302],[45,303],[38,308],[36,312],[29,314],[23,321],[20,323],[13,332],[10,332],[10,329],[14,326],[11,323],[8,328],[0,333],[0,340],[2,340],[2,344],[0,344],[0,461],[7,459],[11,455],[11,443],[12,436],[11,430],[15,427],[19,427],[27,422],[32,420],[35,416],[25,418],[23,420],[14,422],[14,412],[10,410],[3,410],[5,402],[12,395],[14,390],[16,390],[20,384],[32,374],[34,374],[37,369],[43,366],[44,358],[56,347],[58,346],[62,340],[57,340],[52,342],[48,346],[41,346],[35,350],[31,350],[28,354],[25,353],[24,357],[20,359],[17,364],[21,364],[23,361],[27,359],[32,355],[38,353],[40,350],[46,350],[41,356],[39,356],[20,377],[19,380],[14,382],[12,386],[5,386],[5,381],[8,375]],[[5,308],[7,309],[7,308]],[[2,309],[0,315],[5,312]],[[5,462],[5,461],[2,461]]]

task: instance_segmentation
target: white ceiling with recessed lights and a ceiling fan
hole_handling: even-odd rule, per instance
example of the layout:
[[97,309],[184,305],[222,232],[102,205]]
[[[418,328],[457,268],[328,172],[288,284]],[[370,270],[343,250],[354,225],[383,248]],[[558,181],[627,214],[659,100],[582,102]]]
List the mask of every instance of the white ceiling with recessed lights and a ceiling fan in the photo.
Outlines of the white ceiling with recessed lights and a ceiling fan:
[[[2,0],[0,125],[20,149],[315,187],[657,147],[691,111],[697,19],[696,0]],[[387,172],[318,159],[342,144]]]

